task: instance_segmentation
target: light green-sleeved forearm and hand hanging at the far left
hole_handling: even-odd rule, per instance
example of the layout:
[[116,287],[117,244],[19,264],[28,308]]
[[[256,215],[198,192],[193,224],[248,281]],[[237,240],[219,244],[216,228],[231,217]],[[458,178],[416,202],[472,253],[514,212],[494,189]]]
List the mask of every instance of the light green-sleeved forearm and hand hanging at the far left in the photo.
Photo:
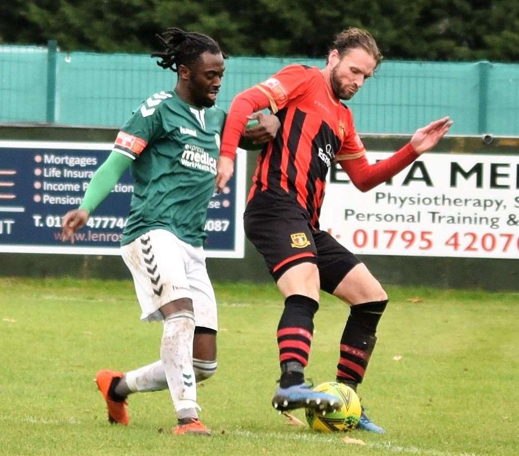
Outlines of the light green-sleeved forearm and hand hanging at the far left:
[[74,243],[74,233],[85,226],[90,213],[112,191],[131,161],[131,158],[113,151],[95,171],[85,192],[83,203],[78,209],[67,212],[63,217],[61,223],[63,242],[71,241],[72,244]]

